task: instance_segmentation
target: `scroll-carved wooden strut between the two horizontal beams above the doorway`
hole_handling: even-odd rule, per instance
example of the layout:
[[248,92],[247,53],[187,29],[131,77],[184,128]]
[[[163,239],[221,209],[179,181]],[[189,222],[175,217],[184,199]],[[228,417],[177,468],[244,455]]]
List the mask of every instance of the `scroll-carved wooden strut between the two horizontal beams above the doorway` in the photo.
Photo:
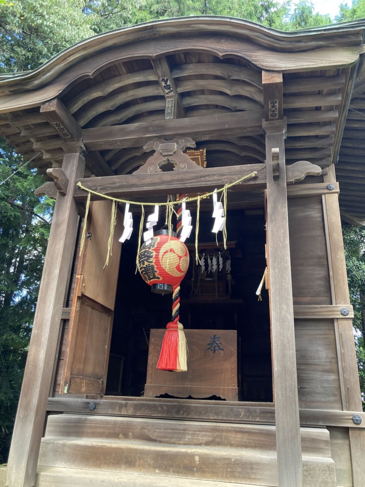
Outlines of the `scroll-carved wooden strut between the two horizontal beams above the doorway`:
[[141,166],[135,174],[162,172],[161,167],[171,162],[174,164],[174,171],[184,171],[186,169],[202,169],[201,166],[191,161],[187,154],[182,151],[186,147],[195,147],[195,142],[190,137],[175,137],[173,140],[156,138],[144,145],[146,152],[154,150],[155,153],[146,163]]

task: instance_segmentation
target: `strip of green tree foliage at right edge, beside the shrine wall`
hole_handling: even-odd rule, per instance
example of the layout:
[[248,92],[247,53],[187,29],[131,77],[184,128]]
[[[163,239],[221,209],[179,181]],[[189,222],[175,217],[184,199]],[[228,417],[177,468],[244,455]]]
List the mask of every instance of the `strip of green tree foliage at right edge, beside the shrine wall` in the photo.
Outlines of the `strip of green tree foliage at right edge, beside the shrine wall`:
[[365,230],[344,225],[342,234],[350,301],[355,315],[353,325],[362,408],[365,411]]

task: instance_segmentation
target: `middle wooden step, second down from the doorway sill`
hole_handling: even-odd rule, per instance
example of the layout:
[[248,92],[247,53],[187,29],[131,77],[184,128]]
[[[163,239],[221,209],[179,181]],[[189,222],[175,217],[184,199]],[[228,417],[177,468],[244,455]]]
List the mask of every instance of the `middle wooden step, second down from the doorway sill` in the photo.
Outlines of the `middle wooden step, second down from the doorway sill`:
[[[277,486],[275,453],[135,440],[45,437],[39,465]],[[335,487],[329,457],[303,456],[305,487]]]

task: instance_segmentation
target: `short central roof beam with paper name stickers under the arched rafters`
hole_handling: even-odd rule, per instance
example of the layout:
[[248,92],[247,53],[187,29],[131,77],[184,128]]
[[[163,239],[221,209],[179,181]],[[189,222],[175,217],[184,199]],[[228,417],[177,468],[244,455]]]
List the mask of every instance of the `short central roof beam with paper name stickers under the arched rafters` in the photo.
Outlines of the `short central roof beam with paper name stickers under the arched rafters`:
[[166,99],[165,119],[185,118],[185,112],[181,104],[180,95],[177,91],[174,78],[165,57],[151,59],[151,63],[156,73]]

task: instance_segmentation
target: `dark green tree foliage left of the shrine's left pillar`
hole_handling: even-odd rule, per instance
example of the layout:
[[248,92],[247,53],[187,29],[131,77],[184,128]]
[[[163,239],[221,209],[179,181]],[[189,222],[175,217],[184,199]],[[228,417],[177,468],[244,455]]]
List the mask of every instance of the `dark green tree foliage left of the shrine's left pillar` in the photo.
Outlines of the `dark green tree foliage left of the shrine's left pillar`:
[[[0,139],[0,180],[23,163]],[[18,404],[53,204],[33,189],[43,177],[26,165],[0,186],[0,463]]]

